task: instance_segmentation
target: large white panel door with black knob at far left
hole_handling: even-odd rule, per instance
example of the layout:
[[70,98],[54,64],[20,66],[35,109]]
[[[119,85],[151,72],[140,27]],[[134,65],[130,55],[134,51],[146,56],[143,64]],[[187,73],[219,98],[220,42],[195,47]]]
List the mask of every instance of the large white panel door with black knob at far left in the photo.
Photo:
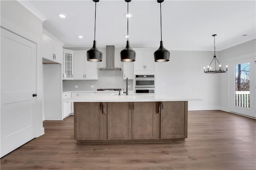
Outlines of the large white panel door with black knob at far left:
[[1,28],[1,157],[36,137],[36,44]]

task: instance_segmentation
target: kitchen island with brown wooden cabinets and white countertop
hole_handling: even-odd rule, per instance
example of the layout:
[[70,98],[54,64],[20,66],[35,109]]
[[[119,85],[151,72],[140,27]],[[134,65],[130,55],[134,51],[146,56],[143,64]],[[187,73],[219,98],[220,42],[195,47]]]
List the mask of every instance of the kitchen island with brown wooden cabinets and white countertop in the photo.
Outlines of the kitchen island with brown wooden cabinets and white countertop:
[[74,102],[78,143],[173,142],[188,134],[188,99],[164,95],[88,95]]

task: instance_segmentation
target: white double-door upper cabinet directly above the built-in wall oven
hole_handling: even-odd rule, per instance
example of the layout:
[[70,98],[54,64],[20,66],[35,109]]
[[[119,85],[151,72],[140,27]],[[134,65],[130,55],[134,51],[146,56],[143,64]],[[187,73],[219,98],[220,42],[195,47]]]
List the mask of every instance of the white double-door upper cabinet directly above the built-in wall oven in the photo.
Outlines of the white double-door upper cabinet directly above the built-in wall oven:
[[149,49],[135,49],[136,61],[134,61],[134,70],[136,71],[154,71],[154,51]]

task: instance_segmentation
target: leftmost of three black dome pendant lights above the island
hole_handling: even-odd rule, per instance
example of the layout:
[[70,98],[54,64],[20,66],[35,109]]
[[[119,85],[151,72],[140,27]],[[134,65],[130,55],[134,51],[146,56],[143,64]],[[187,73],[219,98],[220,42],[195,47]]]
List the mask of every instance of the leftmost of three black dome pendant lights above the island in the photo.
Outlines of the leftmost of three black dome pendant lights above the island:
[[100,62],[102,61],[102,51],[100,51],[96,47],[96,41],[95,41],[95,30],[96,30],[96,2],[99,2],[99,0],[92,0],[95,2],[95,18],[94,18],[94,41],[93,41],[93,46],[91,49],[89,49],[86,52],[87,55],[87,61],[92,61],[92,62]]

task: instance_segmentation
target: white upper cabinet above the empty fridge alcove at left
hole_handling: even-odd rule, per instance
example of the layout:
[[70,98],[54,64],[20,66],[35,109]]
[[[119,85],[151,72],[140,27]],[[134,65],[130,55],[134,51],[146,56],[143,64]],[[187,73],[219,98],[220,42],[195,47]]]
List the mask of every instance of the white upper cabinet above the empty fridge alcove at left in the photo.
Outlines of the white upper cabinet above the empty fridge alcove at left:
[[56,63],[62,63],[62,43],[50,33],[44,31],[42,38],[42,57]]

